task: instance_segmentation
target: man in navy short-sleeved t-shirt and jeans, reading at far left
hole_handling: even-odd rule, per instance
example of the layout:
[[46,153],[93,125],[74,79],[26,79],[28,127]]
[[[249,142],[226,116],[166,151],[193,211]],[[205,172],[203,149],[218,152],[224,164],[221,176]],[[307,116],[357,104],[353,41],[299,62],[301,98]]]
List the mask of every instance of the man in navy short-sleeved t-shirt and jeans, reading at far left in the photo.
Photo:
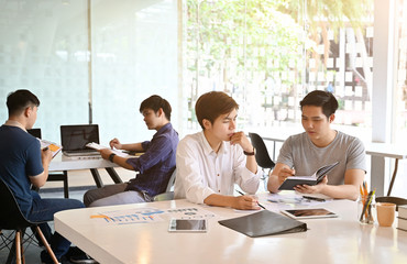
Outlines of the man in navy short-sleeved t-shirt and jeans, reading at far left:
[[[7,98],[9,119],[0,127],[0,178],[13,193],[22,213],[31,221],[53,221],[54,213],[82,208],[84,204],[74,199],[42,199],[31,190],[31,185],[40,188],[48,177],[52,160],[50,150],[41,150],[40,141],[30,135],[36,120],[40,100],[29,90],[16,90]],[[4,216],[3,216],[4,217]],[[47,223],[40,224],[58,261],[68,252],[70,242],[55,232]],[[41,252],[43,263],[53,263],[46,251]],[[76,255],[74,263],[95,263],[94,260]]]

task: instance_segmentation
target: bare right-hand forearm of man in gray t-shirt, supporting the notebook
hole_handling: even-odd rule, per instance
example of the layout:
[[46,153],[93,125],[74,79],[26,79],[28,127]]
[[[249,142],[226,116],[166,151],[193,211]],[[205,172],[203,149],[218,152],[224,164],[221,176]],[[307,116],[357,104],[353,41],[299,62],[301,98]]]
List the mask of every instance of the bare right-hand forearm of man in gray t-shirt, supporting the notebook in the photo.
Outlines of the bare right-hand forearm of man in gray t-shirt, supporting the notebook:
[[328,185],[327,177],[316,186],[302,185],[295,187],[295,190],[302,194],[322,194],[337,199],[356,200],[359,187],[364,179],[364,170],[359,168],[346,169],[343,185]]

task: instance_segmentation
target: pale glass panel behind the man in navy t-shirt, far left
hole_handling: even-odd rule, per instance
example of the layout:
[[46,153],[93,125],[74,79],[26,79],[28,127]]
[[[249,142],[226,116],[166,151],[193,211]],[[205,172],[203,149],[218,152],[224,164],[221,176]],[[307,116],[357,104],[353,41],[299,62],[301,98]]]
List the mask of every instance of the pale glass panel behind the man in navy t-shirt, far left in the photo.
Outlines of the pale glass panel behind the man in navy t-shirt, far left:
[[88,123],[86,1],[1,1],[0,120],[7,95],[29,89],[41,100],[36,128],[59,142],[59,125]]

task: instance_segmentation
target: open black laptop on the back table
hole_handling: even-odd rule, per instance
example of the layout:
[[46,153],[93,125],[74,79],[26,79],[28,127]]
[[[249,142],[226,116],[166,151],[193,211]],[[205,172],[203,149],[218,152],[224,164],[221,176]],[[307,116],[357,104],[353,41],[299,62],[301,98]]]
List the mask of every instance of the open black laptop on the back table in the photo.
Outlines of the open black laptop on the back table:
[[100,155],[98,151],[86,146],[90,142],[99,144],[99,127],[97,124],[61,125],[61,143],[65,155]]

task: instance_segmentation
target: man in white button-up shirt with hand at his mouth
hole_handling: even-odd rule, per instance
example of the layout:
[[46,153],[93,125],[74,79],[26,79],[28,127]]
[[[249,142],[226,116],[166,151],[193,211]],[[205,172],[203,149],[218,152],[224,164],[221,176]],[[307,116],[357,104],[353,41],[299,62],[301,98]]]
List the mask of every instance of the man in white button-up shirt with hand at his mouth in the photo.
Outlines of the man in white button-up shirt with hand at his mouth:
[[195,111],[201,132],[185,136],[176,154],[175,198],[235,209],[260,209],[255,197],[233,196],[234,184],[255,194],[261,170],[254,147],[243,132],[235,132],[238,103],[224,92],[202,95]]

